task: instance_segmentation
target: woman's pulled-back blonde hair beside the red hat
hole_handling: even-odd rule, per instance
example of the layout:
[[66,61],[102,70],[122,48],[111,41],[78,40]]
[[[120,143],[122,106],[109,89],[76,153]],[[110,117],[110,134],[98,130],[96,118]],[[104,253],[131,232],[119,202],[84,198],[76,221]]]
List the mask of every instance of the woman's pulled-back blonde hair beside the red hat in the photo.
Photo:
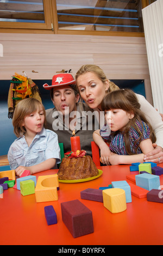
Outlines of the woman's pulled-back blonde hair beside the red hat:
[[[86,64],[81,66],[81,68],[77,71],[76,81],[80,75],[84,75],[87,72],[93,72],[104,84],[108,80],[108,78],[106,78],[106,75],[104,74],[104,71],[101,68],[99,68],[99,66]],[[111,82],[110,80],[108,81],[109,81],[109,89],[107,93],[112,92],[113,90],[120,89],[118,86],[116,86],[114,82]]]

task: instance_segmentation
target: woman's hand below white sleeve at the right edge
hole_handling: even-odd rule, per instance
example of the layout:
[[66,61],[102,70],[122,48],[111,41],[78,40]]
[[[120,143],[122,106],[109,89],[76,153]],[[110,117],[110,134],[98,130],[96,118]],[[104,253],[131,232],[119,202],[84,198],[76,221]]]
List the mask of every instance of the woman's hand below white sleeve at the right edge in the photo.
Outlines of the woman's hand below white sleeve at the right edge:
[[163,163],[163,149],[153,143],[154,149],[144,156],[145,162]]

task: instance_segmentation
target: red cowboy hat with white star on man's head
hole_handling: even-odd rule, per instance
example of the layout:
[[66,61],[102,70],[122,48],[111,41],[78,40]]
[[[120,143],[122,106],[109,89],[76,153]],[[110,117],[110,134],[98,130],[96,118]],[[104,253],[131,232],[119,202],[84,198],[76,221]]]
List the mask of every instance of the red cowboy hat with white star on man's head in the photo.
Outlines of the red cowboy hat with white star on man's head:
[[71,74],[62,73],[54,75],[52,79],[52,85],[49,86],[47,83],[45,83],[43,84],[43,88],[45,88],[46,90],[51,90],[54,87],[68,86],[69,84],[76,84],[76,80],[74,80]]

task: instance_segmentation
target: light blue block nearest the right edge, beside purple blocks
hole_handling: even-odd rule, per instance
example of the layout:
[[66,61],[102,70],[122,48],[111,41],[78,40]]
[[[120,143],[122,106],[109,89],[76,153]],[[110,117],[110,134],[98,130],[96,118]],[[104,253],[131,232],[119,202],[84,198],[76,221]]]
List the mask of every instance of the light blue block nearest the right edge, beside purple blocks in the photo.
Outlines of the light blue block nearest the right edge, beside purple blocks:
[[160,178],[157,175],[142,173],[135,176],[136,186],[145,188],[146,190],[158,190],[160,187]]

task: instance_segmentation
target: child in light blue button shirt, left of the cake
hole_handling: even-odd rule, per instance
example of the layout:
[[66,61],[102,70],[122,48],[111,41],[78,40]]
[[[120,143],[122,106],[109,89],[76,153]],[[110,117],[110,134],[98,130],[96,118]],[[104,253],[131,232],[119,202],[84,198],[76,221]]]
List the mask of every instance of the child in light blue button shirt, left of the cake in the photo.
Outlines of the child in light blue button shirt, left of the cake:
[[45,129],[45,108],[34,98],[20,101],[14,111],[12,124],[18,137],[8,152],[10,168],[21,176],[54,168],[60,162],[60,148],[56,133]]

